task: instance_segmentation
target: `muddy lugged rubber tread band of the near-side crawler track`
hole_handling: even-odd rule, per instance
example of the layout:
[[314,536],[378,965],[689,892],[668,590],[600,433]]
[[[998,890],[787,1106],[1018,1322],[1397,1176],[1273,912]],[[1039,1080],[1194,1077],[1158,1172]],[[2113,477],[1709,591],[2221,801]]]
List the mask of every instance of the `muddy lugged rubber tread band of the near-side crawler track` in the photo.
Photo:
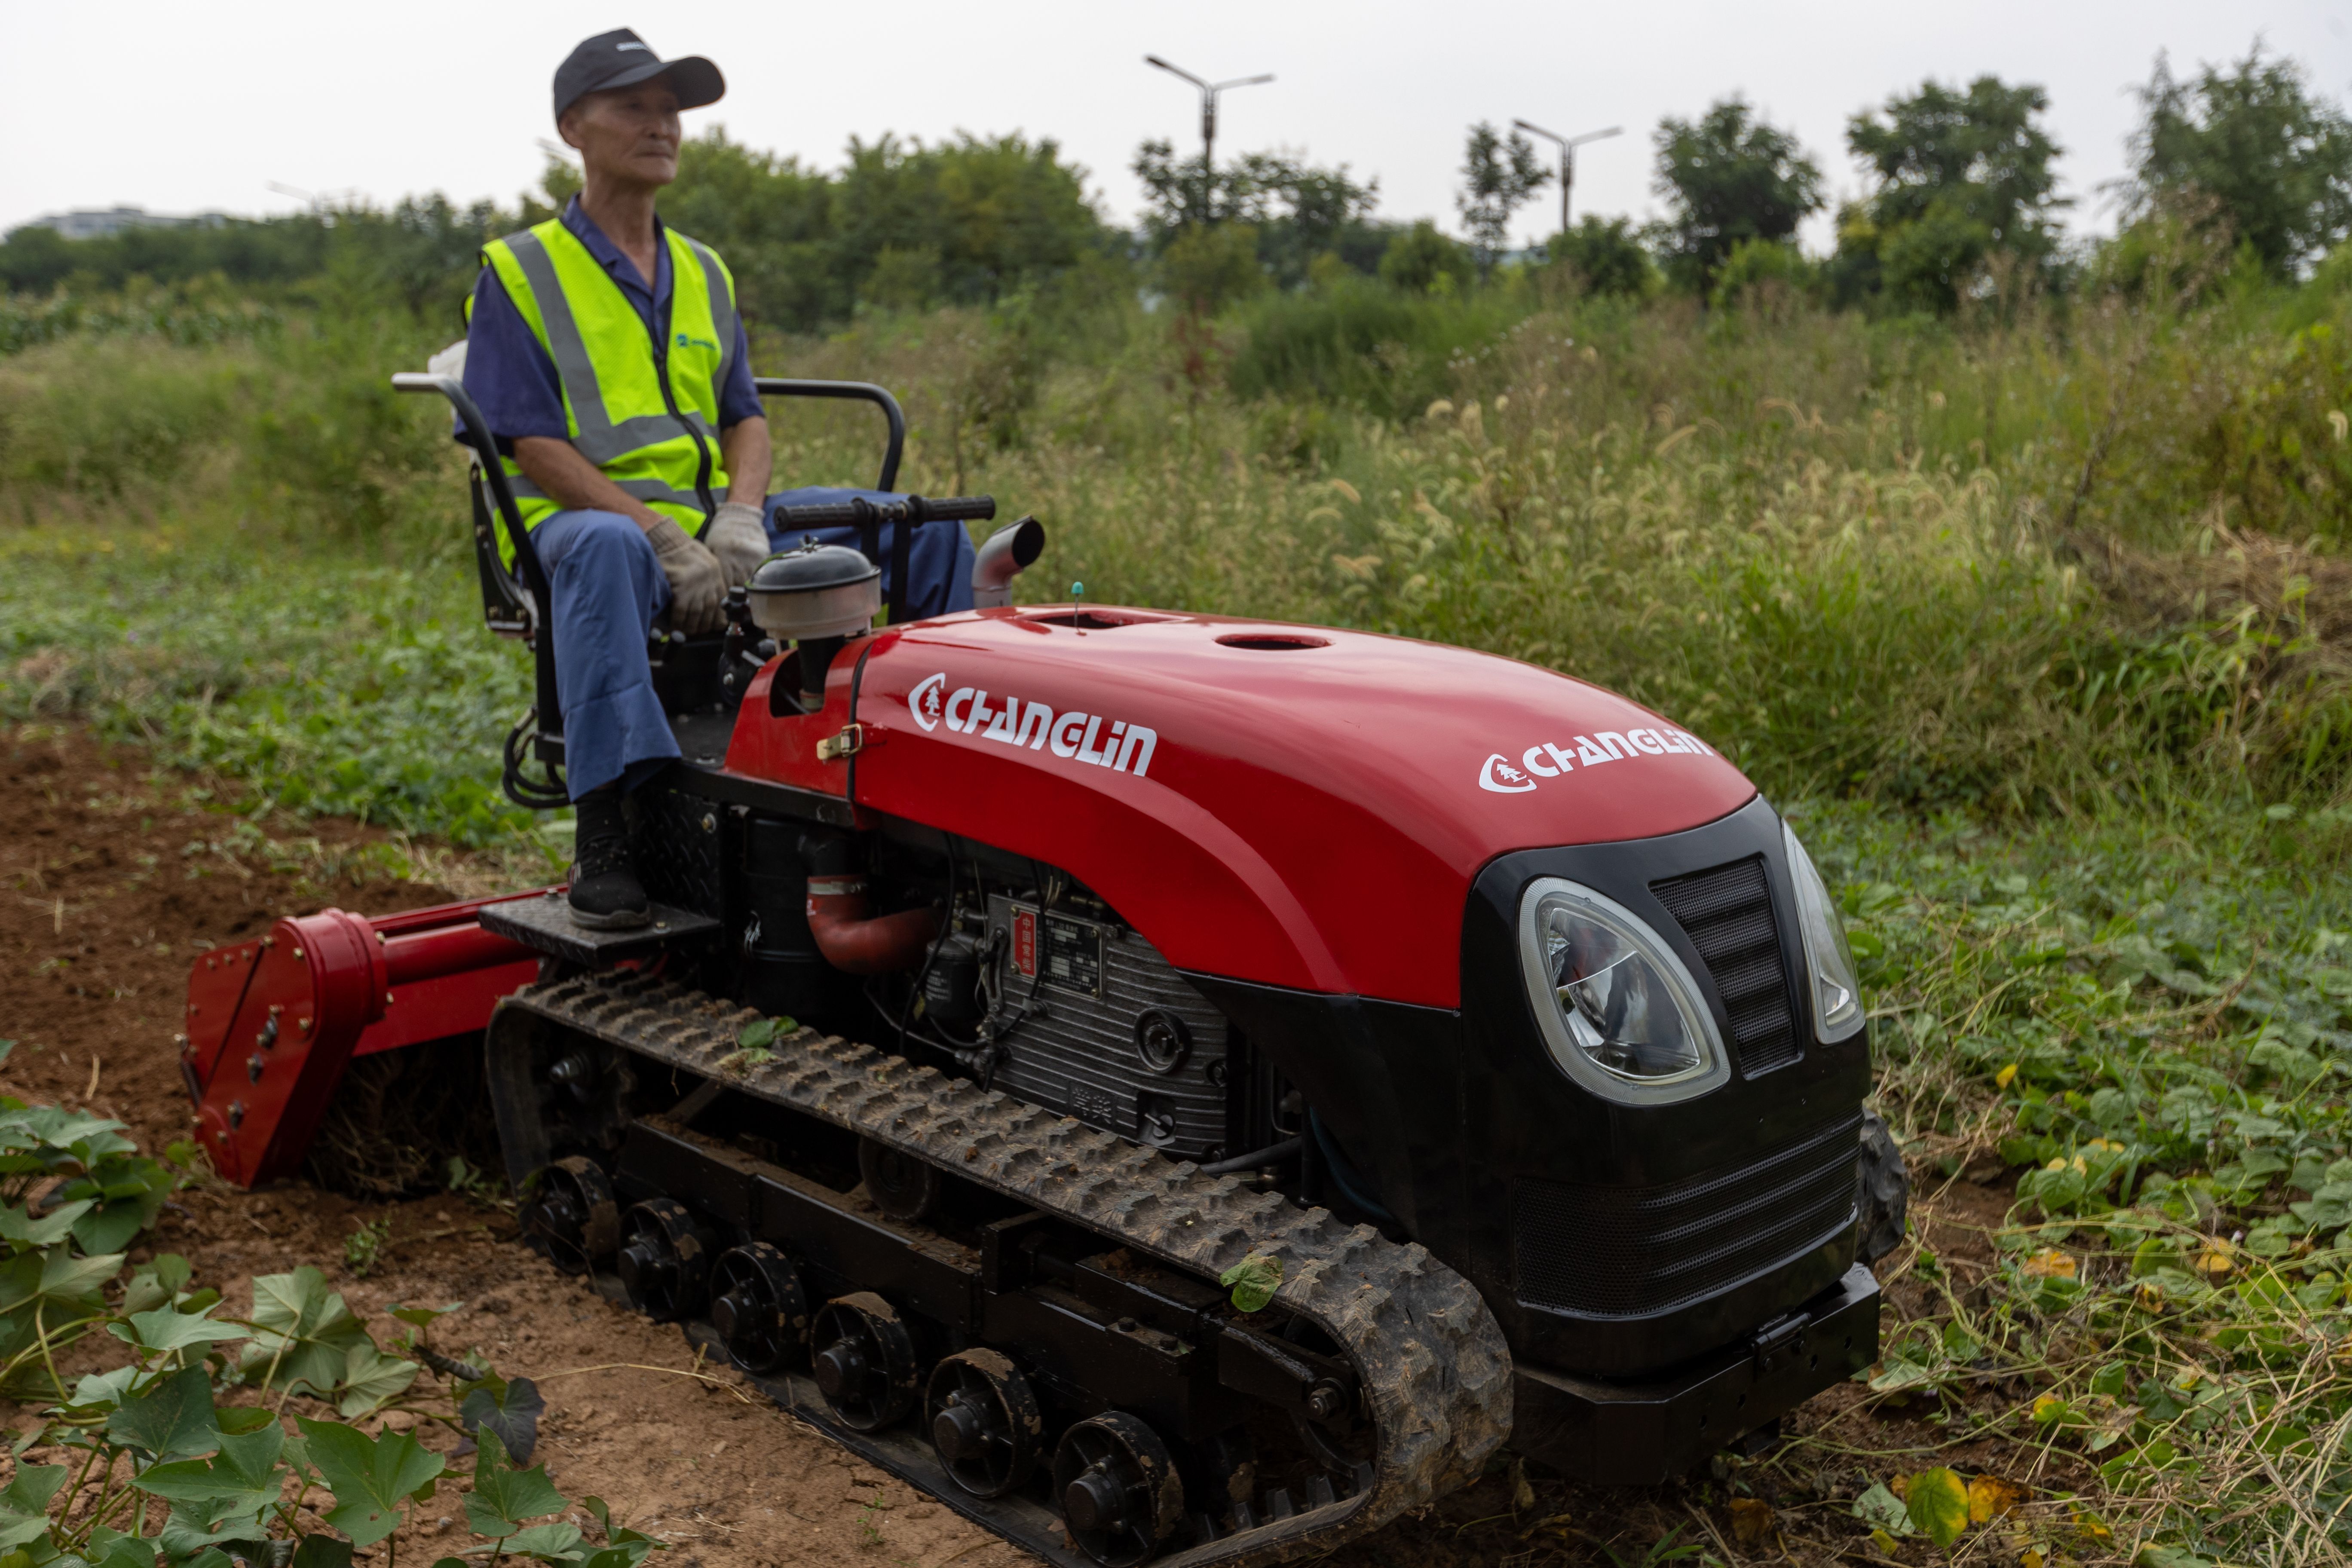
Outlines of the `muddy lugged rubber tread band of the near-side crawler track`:
[[[607,1044],[835,1126],[894,1143],[1033,1208],[1216,1279],[1251,1253],[1282,1260],[1275,1298],[1315,1321],[1357,1366],[1378,1448],[1369,1490],[1190,1547],[1162,1568],[1277,1563],[1329,1552],[1475,1481],[1510,1436],[1512,1371],[1479,1293],[1418,1241],[1397,1246],[1277,1192],[1249,1192],[1190,1161],[983,1091],[840,1037],[800,1030],[746,1065],[760,1016],[703,992],[626,973],[527,985],[522,1009]],[[492,1030],[496,1037],[496,1030]]]

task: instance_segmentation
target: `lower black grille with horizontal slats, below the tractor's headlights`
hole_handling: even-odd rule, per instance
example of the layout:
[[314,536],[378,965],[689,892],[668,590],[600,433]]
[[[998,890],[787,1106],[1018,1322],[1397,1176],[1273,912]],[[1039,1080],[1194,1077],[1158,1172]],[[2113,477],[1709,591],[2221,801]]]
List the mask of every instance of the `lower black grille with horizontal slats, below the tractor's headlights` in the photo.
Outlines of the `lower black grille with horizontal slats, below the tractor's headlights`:
[[1853,1225],[1860,1117],[1658,1187],[1512,1187],[1519,1300],[1644,1316],[1719,1295]]

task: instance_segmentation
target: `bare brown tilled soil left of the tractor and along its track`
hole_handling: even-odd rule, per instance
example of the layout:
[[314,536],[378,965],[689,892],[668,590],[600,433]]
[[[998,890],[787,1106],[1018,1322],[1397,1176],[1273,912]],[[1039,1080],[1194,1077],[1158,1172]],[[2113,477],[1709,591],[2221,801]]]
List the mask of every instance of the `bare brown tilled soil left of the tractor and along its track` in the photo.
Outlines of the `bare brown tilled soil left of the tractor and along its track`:
[[[233,835],[242,818],[221,809],[235,792],[205,783],[78,731],[0,733],[0,1037],[16,1041],[0,1091],[118,1117],[151,1150],[191,1126],[172,1032],[193,954],[278,914],[445,903],[475,891],[445,882],[482,875],[463,863],[440,867],[452,872],[442,882],[372,872],[386,835],[350,823],[278,818],[266,823],[273,844],[249,844]],[[365,1279],[346,1262],[362,1222],[388,1227]],[[699,1368],[675,1328],[557,1274],[513,1241],[496,1208],[456,1194],[353,1204],[308,1185],[207,1182],[179,1197],[151,1244],[186,1255],[230,1314],[252,1307],[254,1274],[303,1262],[325,1269],[383,1342],[400,1331],[388,1307],[463,1302],[435,1326],[435,1345],[539,1380],[548,1418],[534,1458],[564,1495],[604,1497],[619,1519],[668,1540],[654,1559],[663,1568],[1035,1561],[734,1387],[722,1368]],[[80,1347],[89,1366],[101,1345]],[[26,1413],[12,1420],[31,1425]],[[447,1450],[456,1436],[428,1427],[423,1441]],[[395,1537],[400,1561],[470,1544],[463,1519],[445,1486]],[[362,1559],[386,1561],[381,1549]]]

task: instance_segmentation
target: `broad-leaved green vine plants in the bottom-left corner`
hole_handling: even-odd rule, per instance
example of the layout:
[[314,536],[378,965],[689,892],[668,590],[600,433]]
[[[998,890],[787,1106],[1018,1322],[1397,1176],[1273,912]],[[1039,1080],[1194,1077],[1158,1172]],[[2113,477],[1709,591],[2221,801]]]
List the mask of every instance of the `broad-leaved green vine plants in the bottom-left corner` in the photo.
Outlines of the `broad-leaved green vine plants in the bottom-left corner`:
[[[524,1469],[546,1401],[529,1378],[437,1354],[428,1328],[445,1309],[395,1307],[388,1352],[315,1267],[256,1276],[247,1316],[191,1288],[176,1253],[125,1267],[172,1192],[205,1180],[193,1145],[169,1161],[139,1154],[120,1121],[0,1095],[0,1387],[38,1415],[0,1490],[7,1561],[350,1568],[459,1474],[416,1441],[419,1422],[480,1443],[466,1523],[487,1544],[468,1556],[637,1568],[659,1549],[595,1497],[581,1507],[602,1540],[557,1519],[572,1500],[546,1467]],[[68,1382],[59,1354],[99,1331],[120,1340],[111,1366]],[[440,1382],[421,1387],[428,1366]]]

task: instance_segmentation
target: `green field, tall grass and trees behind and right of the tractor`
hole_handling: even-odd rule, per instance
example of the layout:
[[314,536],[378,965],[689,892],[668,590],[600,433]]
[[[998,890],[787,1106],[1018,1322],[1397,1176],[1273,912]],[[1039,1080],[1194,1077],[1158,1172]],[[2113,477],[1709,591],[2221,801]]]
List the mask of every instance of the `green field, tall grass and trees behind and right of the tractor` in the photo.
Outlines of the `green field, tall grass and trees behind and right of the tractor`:
[[[2051,244],[2039,92],[1992,80],[1856,120],[1879,188],[1828,261],[1788,242],[1804,150],[1740,106],[1670,127],[1670,233],[1590,219],[1486,277],[1298,160],[1148,148],[1131,254],[1044,146],[818,176],[708,139],[680,193],[769,277],[760,369],[896,388],[908,487],[1047,522],[1037,597],[1545,663],[1792,811],[1945,1241],[1893,1260],[1870,1375],[1915,1425],[1731,1486],[1832,1467],[1839,1528],[1907,1561],[2352,1549],[2347,174],[2291,71],[2166,92],[2091,252]],[[2305,127],[2305,186],[2199,172],[2256,122]],[[1035,223],[891,228],[950,186]],[[0,715],[510,844],[524,661],[480,630],[442,411],[383,388],[463,268],[412,299],[381,266],[334,237],[294,282],[0,306]],[[788,482],[870,475],[870,414],[774,428]],[[1962,1192],[2004,1197],[1964,1225]]]

